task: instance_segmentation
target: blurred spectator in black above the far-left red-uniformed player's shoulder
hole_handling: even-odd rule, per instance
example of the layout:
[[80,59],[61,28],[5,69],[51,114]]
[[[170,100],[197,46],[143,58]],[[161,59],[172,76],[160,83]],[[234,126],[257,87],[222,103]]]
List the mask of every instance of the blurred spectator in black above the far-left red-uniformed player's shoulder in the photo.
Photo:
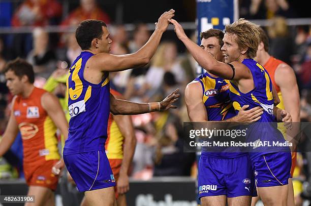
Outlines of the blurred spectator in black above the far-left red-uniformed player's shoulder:
[[43,28],[33,32],[34,49],[28,54],[27,61],[33,64],[37,75],[48,78],[56,68],[56,55],[49,49],[49,35]]

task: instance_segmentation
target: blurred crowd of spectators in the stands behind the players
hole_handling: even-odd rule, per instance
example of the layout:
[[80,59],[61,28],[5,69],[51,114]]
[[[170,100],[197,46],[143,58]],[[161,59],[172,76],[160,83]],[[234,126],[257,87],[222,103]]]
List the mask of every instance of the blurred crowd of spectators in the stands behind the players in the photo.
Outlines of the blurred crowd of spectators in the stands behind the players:
[[[296,17],[285,0],[240,1],[240,16],[246,18],[271,19],[265,27],[270,40],[269,53],[292,66],[296,73],[300,92],[301,121],[311,121],[311,30],[310,25],[288,26],[286,18]],[[144,23],[137,23],[128,31],[122,24],[114,24],[95,0],[81,0],[79,7],[70,13],[62,12],[56,0],[25,0],[13,12],[12,27],[34,26],[32,33],[0,33],[0,72],[7,61],[22,57],[32,63],[36,73],[35,85],[43,87],[46,80],[57,69],[68,69],[80,54],[75,33],[48,33],[44,26],[77,26],[85,19],[99,19],[108,24],[113,40],[111,53],[122,55],[136,52],[148,40],[151,32]],[[1,15],[1,14],[0,14]],[[192,39],[197,36],[193,32]],[[184,51],[184,49],[183,49]],[[131,176],[149,179],[153,176],[196,177],[194,153],[183,153],[182,124],[189,121],[183,91],[196,76],[197,64],[186,51],[180,52],[177,38],[161,42],[151,62],[144,68],[133,68],[110,73],[110,86],[135,102],[160,101],[176,88],[181,97],[178,109],[134,115],[137,147]],[[54,73],[55,74],[55,73]],[[12,95],[0,73],[0,134],[4,132],[9,118]],[[0,178],[22,178],[21,139],[17,137],[6,158],[0,159]],[[297,175],[301,182],[311,177],[304,155],[298,158],[301,168]],[[311,190],[305,195],[311,196]]]

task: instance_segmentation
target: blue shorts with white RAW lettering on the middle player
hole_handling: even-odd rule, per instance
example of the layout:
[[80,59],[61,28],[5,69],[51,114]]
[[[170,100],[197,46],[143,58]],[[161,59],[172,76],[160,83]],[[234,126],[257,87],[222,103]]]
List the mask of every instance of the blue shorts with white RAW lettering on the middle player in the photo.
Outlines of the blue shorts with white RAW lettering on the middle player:
[[257,196],[254,172],[248,155],[236,158],[214,158],[201,155],[199,160],[199,198]]

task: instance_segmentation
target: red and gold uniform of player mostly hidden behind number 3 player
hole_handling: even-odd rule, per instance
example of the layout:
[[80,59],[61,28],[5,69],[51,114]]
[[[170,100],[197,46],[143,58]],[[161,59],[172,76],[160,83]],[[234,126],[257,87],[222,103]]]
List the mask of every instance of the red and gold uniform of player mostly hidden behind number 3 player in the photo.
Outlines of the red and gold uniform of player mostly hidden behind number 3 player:
[[[117,91],[110,89],[110,93],[115,96],[121,94]],[[123,142],[124,137],[122,136],[116,122],[113,120],[113,116],[110,113],[108,118],[107,128],[107,140],[105,143],[105,150],[109,159],[110,167],[114,176],[114,179],[118,181],[119,173],[121,169],[121,163],[123,159]],[[118,197],[116,186],[114,187],[115,196]]]

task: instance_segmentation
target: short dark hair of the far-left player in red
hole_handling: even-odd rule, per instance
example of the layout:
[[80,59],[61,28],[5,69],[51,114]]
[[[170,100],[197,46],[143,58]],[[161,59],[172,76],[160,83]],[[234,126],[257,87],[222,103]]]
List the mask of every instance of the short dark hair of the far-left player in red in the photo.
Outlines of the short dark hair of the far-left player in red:
[[19,78],[26,75],[28,77],[29,83],[33,84],[35,81],[35,72],[33,65],[29,64],[26,60],[17,57],[16,59],[9,61],[4,69],[4,73],[8,71],[13,71]]

